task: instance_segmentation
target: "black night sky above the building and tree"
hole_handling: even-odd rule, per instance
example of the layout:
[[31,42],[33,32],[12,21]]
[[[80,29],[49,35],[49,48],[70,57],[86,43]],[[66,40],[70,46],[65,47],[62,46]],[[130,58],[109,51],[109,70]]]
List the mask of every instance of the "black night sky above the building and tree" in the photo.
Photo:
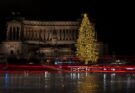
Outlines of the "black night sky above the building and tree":
[[107,43],[109,53],[135,54],[134,3],[131,0],[0,0],[0,38],[11,12],[27,19],[77,20],[87,12],[95,24],[98,39]]

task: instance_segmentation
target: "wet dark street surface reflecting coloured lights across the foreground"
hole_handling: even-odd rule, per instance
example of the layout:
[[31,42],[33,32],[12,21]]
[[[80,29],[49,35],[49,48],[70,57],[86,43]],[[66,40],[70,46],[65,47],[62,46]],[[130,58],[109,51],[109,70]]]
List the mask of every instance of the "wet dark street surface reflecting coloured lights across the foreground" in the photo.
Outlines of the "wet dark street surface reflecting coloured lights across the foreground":
[[22,71],[0,74],[1,93],[134,93],[134,73],[50,73]]

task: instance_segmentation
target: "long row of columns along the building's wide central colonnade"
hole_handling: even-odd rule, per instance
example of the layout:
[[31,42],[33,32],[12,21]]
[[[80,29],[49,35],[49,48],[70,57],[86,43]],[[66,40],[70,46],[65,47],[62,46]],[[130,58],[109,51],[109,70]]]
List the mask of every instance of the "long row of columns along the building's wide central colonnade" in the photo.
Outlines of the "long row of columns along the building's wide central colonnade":
[[77,30],[30,30],[24,29],[25,40],[76,40]]

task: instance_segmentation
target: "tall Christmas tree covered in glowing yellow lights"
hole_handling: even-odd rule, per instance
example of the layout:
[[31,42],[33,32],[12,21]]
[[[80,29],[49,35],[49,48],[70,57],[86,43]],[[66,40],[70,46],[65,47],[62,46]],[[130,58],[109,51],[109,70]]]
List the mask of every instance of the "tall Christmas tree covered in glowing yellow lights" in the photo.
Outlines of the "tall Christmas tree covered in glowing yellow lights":
[[99,53],[97,49],[95,30],[92,23],[90,23],[87,14],[84,14],[84,17],[82,19],[76,47],[77,57],[84,61],[85,64],[88,64],[88,62],[97,62]]

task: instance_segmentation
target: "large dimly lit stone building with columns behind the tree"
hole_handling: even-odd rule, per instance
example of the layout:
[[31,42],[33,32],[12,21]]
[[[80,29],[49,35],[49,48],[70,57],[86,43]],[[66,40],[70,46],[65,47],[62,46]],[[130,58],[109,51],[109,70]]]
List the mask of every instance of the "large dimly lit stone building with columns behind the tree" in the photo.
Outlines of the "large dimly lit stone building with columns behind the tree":
[[[6,41],[1,49],[5,55],[75,55],[79,21],[35,21],[23,18],[8,21],[6,27]],[[100,55],[103,55],[104,44],[99,42],[97,47]]]

